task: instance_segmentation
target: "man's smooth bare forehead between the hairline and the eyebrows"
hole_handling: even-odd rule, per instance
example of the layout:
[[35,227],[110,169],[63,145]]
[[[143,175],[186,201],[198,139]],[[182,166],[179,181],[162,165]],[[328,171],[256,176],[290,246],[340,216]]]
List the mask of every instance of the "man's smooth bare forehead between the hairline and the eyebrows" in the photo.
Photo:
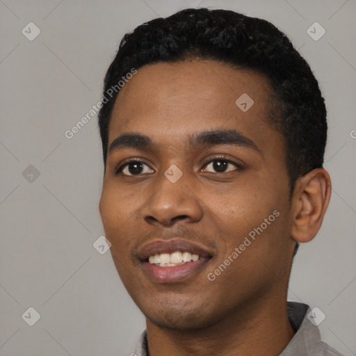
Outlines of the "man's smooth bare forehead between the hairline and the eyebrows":
[[212,60],[145,65],[119,92],[108,142],[140,132],[172,145],[191,133],[234,129],[263,144],[269,103],[268,80],[251,70]]

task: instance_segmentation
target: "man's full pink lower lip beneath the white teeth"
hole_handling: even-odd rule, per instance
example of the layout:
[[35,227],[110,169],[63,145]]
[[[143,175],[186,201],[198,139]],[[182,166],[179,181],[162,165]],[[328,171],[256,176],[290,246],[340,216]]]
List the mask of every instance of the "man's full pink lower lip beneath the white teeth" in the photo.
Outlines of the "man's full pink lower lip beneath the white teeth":
[[172,267],[159,267],[155,264],[149,264],[149,262],[143,261],[142,266],[145,275],[154,282],[174,283],[193,277],[197,271],[204,268],[208,261],[209,259],[200,259]]

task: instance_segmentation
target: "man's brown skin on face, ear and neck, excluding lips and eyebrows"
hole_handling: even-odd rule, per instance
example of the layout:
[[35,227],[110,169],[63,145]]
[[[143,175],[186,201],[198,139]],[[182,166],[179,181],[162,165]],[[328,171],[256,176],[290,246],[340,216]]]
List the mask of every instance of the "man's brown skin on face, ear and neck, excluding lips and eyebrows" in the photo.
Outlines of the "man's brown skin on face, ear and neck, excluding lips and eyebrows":
[[[243,112],[235,101],[254,100]],[[268,124],[268,80],[212,60],[146,65],[115,102],[108,145],[122,133],[141,133],[152,148],[108,154],[99,211],[121,280],[145,314],[149,355],[279,355],[293,337],[286,293],[296,241],[310,241],[330,200],[330,177],[312,170],[289,195],[286,148]],[[191,133],[236,130],[258,147],[190,147]],[[138,175],[116,169],[130,157]],[[218,157],[218,158],[217,158]],[[212,160],[234,161],[217,172]],[[221,163],[221,162],[220,162]],[[174,184],[163,174],[175,164]],[[146,166],[147,165],[147,166]],[[280,216],[216,280],[207,274],[273,211]],[[206,246],[213,258],[193,278],[152,282],[136,259],[156,238],[180,236]]]

